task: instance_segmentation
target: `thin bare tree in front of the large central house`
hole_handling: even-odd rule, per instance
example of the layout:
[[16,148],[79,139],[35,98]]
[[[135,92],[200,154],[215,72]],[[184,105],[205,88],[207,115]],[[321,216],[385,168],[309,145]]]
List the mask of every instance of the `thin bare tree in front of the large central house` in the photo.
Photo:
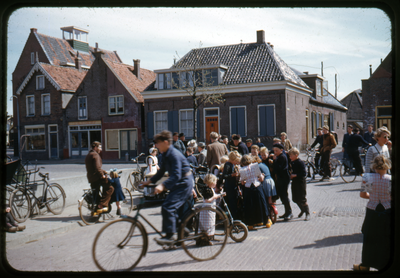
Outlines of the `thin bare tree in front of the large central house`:
[[[200,42],[201,47],[201,42]],[[193,138],[197,140],[197,110],[201,105],[223,103],[223,77],[225,67],[206,63],[207,49],[193,49],[190,55],[191,62],[180,59],[172,68],[172,88],[180,89],[192,98],[193,101]],[[177,56],[179,57],[178,53]]]

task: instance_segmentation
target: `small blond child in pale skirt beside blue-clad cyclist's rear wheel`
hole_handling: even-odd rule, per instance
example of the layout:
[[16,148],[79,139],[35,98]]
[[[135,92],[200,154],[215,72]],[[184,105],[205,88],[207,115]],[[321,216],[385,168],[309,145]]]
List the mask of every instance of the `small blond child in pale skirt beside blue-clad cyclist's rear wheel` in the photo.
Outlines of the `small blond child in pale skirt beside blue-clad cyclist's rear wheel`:
[[[215,187],[217,185],[217,177],[213,174],[207,174],[204,177],[204,183],[207,187],[204,188],[203,195],[203,206],[211,206],[213,208],[217,205],[217,199],[221,196],[225,196],[225,193],[215,194]],[[199,219],[200,231],[206,231],[208,238],[200,238],[196,241],[196,245],[212,245],[210,241],[215,233],[215,212],[212,211],[201,211]]]

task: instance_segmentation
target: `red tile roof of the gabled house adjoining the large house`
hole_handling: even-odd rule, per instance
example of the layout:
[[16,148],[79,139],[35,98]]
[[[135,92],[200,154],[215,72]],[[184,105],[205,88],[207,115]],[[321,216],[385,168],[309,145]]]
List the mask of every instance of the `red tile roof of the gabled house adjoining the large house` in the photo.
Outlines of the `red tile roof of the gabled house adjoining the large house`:
[[103,60],[108,64],[110,69],[116,74],[117,78],[123,83],[123,85],[134,95],[136,101],[143,102],[142,92],[148,89],[154,84],[156,80],[156,74],[144,68],[140,68],[139,80],[137,76],[133,73],[133,66],[116,63],[107,58]]

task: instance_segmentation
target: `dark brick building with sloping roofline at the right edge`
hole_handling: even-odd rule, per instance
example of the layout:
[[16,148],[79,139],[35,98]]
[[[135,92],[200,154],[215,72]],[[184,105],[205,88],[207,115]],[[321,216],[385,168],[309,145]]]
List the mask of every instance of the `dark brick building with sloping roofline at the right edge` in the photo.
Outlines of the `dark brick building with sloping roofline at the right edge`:
[[361,80],[363,92],[364,126],[373,124],[374,129],[386,126],[392,131],[392,52],[372,73],[369,79]]

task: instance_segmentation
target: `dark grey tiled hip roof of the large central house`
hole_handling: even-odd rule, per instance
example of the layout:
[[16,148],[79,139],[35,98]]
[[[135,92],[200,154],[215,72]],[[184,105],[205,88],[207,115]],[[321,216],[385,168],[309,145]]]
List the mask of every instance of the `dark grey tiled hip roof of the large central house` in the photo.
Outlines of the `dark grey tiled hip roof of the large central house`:
[[192,49],[171,68],[222,64],[224,84],[291,81],[307,84],[266,43],[241,43]]

